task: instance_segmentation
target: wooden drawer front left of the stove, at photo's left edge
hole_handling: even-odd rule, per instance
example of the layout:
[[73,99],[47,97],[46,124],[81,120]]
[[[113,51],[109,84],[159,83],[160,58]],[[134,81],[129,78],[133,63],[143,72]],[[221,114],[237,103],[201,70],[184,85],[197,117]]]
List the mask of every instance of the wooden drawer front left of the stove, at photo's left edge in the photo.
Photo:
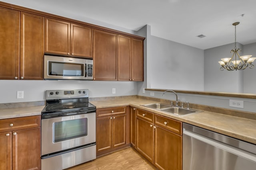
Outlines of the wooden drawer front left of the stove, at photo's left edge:
[[40,116],[18,117],[12,119],[0,120],[0,133],[6,131],[16,131],[21,129],[29,129],[33,127],[40,127]]

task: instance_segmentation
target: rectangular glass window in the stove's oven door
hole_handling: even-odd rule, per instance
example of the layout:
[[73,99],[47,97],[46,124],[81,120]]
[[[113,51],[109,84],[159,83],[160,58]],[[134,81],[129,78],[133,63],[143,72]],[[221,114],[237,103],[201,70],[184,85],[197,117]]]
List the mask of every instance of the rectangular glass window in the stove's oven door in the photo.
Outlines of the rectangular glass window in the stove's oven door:
[[87,118],[53,123],[53,142],[87,136]]

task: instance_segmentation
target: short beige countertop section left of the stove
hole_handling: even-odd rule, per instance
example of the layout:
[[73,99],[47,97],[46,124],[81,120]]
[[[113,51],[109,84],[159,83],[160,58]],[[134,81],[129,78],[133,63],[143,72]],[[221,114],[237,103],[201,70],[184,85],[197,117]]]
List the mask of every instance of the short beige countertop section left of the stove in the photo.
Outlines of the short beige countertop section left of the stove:
[[14,107],[0,109],[0,119],[41,115],[44,106]]

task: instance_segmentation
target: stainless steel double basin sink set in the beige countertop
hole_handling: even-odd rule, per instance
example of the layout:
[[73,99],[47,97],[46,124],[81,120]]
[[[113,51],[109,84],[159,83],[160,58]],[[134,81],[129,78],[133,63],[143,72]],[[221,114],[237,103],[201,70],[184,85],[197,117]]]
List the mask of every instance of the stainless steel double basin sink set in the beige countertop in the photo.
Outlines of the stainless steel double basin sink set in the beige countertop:
[[176,106],[163,104],[163,103],[146,104],[141,106],[148,107],[151,109],[156,109],[158,111],[163,111],[165,113],[170,113],[178,116],[184,116],[184,115],[190,115],[190,114],[202,112],[202,110],[198,110],[198,109],[186,109],[186,108],[176,107]]

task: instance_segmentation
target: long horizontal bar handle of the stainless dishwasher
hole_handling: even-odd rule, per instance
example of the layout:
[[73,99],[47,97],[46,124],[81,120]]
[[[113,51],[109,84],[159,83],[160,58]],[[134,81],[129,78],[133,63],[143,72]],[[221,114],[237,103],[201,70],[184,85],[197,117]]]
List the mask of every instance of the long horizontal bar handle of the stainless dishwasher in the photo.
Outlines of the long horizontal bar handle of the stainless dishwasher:
[[211,139],[209,137],[205,137],[203,135],[200,135],[198,133],[194,133],[191,131],[187,131],[186,129],[183,129],[183,135],[187,135],[190,136],[192,138],[198,139],[199,141],[202,141],[204,143],[208,143],[214,147],[218,147],[220,149],[226,150],[227,152],[236,154],[238,156],[241,156],[243,158],[246,158],[248,160],[252,160],[254,162],[256,162],[256,156],[255,154],[251,153],[251,152],[247,152],[246,150],[242,150],[233,146],[230,146],[226,143],[222,143],[220,141],[216,141],[214,139]]

